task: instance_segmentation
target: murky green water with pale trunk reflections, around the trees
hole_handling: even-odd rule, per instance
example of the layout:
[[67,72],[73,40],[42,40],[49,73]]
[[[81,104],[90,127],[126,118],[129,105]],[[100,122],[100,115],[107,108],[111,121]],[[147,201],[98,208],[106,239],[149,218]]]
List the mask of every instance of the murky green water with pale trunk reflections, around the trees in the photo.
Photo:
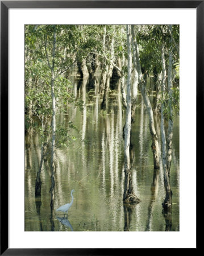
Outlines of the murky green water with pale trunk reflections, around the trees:
[[[125,110],[117,90],[109,94],[107,112],[101,113],[101,99],[97,86],[88,89],[83,81],[73,81],[74,94],[86,102],[86,108],[69,107],[68,113],[60,114],[58,122],[68,125],[71,119],[80,139],[68,148],[56,150],[57,168],[54,209],[74,201],[68,211],[51,212],[51,174],[43,165],[41,172],[41,197],[35,198],[35,179],[40,162],[38,134],[27,135],[31,150],[25,152],[25,230],[26,231],[179,231],[179,119],[174,119],[173,155],[170,184],[173,192],[172,214],[163,215],[163,170],[153,170],[151,135],[148,114],[141,95],[138,98],[131,142],[134,164],[132,177],[135,193],[141,200],[135,207],[123,205],[124,159],[122,129]],[[160,120],[155,118],[160,139]],[[30,138],[28,138],[30,136]],[[161,164],[160,164],[161,165]],[[153,182],[154,181],[154,182]],[[155,184],[155,185],[152,185]]]

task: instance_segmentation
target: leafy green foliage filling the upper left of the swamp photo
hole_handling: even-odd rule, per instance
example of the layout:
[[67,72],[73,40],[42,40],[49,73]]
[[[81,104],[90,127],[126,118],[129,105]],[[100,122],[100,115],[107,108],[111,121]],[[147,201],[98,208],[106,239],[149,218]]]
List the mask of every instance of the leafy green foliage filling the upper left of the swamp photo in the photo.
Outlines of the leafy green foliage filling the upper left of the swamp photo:
[[[56,33],[55,54],[53,54],[54,32]],[[90,31],[89,31],[90,33]],[[41,143],[48,148],[51,143],[51,68],[55,74],[55,99],[57,114],[66,113],[67,105],[73,104],[84,108],[84,102],[76,101],[72,93],[72,84],[66,71],[73,64],[88,55],[90,49],[96,48],[97,40],[74,25],[27,25],[25,26],[25,114],[26,127],[34,126],[40,135]],[[99,47],[98,47],[99,48]],[[100,48],[99,48],[100,49]],[[40,121],[34,122],[34,117]],[[57,146],[67,146],[76,141],[70,130],[77,130],[73,122],[68,122],[65,129],[56,128]]]

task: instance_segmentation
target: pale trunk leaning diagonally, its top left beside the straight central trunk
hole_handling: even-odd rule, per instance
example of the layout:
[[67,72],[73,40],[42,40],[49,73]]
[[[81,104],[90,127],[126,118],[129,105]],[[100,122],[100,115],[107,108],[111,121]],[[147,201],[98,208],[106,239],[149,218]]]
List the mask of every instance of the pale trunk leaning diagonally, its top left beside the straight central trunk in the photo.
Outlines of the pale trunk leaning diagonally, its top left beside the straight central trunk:
[[151,103],[149,101],[149,97],[147,95],[145,81],[143,80],[143,75],[141,73],[140,60],[139,60],[139,48],[138,48],[138,43],[136,42],[135,26],[132,27],[132,30],[133,30],[132,35],[134,36],[134,39],[133,39],[134,65],[135,65],[136,71],[138,72],[139,89],[140,89],[141,95],[143,96],[144,104],[147,108],[147,112],[149,115],[149,130],[152,135],[151,148],[153,153],[153,164],[155,169],[159,169],[159,143],[158,143],[158,137],[155,130],[153,110],[152,110]]

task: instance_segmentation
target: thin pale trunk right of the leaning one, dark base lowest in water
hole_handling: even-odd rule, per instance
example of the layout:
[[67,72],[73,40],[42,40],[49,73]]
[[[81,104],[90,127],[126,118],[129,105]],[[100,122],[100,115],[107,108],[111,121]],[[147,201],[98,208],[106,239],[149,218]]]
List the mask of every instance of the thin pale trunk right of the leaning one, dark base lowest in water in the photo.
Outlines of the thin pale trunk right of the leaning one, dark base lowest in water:
[[[161,65],[162,65],[162,80],[161,80],[161,92],[164,94],[165,80],[166,80],[166,67],[164,58],[164,44],[161,47]],[[166,163],[166,135],[164,129],[164,102],[161,104],[161,146],[162,146],[162,162],[164,171],[164,187],[166,196],[163,202],[164,209],[170,209],[172,207],[172,190],[170,188],[170,181],[168,175],[168,168]]]

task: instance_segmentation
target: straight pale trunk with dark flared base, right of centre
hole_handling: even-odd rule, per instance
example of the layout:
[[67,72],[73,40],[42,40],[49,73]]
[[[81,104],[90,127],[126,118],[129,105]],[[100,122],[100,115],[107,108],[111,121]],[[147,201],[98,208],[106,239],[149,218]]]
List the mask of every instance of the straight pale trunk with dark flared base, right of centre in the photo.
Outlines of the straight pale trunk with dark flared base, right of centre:
[[131,134],[131,73],[132,73],[132,53],[131,53],[131,27],[127,25],[127,52],[128,52],[128,74],[127,74],[127,109],[126,125],[124,127],[124,194],[123,201],[139,203],[138,197],[134,194],[130,167],[130,134]]

